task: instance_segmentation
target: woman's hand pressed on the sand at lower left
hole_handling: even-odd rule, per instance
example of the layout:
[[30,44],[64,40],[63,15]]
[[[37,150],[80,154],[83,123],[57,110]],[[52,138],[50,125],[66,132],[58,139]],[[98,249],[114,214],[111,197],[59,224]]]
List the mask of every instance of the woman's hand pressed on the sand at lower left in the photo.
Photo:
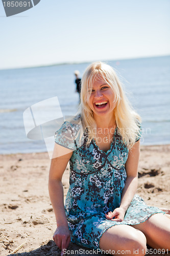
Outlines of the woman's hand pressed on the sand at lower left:
[[59,226],[54,232],[53,240],[61,250],[61,256],[64,255],[63,249],[67,249],[70,242],[70,231],[66,226]]

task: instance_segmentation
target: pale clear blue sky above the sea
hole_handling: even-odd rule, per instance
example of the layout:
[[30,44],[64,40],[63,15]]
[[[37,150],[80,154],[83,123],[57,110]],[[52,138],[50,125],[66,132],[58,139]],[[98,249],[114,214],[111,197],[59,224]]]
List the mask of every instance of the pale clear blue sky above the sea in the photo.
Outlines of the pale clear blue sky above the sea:
[[169,13],[169,0],[41,0],[6,17],[1,1],[0,69],[170,55]]

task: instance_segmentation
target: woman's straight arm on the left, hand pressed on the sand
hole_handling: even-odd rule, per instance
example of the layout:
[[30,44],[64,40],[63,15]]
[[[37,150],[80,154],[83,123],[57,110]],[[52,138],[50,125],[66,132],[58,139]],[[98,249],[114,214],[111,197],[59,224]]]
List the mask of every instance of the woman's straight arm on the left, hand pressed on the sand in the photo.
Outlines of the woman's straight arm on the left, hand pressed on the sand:
[[67,163],[72,155],[72,151],[67,150],[66,148],[63,149],[62,146],[55,144],[54,152],[57,157],[53,158],[51,161],[48,190],[57,222],[57,229],[53,239],[56,245],[63,251],[63,249],[67,248],[70,242],[70,232],[64,210],[63,185],[61,180]]

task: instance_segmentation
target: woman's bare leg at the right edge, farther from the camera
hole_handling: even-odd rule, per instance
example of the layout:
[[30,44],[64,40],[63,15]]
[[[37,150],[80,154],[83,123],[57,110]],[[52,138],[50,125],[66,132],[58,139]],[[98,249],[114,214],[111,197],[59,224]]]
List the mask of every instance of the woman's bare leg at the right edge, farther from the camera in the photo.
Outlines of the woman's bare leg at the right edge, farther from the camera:
[[133,225],[141,230],[152,248],[170,250],[170,219],[163,214],[155,214],[147,221]]

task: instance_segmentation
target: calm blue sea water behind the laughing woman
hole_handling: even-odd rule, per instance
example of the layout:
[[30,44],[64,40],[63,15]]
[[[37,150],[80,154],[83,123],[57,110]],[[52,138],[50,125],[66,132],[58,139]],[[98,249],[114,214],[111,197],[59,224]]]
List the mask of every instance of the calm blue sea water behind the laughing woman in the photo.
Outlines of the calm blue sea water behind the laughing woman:
[[[170,143],[170,56],[106,61],[117,72],[127,96],[142,119],[144,145]],[[63,116],[78,110],[74,71],[89,63],[0,70],[0,153],[45,152],[43,140],[30,140],[23,112],[57,96]],[[44,115],[45,115],[45,109]]]

